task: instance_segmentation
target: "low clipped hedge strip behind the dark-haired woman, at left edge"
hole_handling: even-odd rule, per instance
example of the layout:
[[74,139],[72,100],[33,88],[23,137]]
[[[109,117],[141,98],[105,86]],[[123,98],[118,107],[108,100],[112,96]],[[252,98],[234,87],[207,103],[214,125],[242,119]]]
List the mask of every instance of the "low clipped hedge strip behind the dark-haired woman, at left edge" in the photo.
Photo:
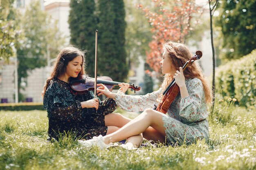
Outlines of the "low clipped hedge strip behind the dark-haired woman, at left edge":
[[26,102],[26,103],[0,103],[0,110],[44,110],[43,103]]

